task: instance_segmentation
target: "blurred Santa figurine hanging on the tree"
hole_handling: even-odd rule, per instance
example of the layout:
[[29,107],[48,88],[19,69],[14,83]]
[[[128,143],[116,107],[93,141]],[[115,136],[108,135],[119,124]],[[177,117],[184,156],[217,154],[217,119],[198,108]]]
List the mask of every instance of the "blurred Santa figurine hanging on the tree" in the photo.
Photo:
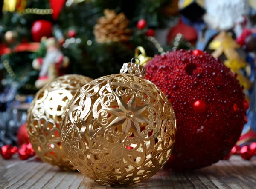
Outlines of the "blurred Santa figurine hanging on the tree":
[[60,46],[54,37],[46,39],[45,46],[47,49],[46,56],[36,58],[32,62],[33,68],[40,70],[38,80],[35,81],[35,86],[38,89],[59,77],[61,70],[67,68],[70,62],[69,58],[61,52]]

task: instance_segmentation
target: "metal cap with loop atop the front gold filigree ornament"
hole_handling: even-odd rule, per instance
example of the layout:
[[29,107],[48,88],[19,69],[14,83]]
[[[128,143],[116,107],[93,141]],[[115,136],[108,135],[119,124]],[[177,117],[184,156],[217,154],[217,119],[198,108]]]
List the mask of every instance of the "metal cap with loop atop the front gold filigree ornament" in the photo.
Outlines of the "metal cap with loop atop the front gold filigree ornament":
[[131,62],[124,63],[120,69],[120,74],[131,74],[140,78],[145,78],[146,69],[144,66],[140,65],[140,60],[138,64],[136,62],[134,63],[133,61],[135,59],[139,60],[138,58],[132,58]]

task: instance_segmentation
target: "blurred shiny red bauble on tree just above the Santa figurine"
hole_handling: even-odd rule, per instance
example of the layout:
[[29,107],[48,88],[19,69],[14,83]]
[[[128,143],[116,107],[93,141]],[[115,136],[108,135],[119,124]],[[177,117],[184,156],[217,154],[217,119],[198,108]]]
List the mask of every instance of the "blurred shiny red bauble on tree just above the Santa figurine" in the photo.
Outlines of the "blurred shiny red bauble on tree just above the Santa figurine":
[[52,37],[52,23],[47,20],[37,20],[32,24],[33,41],[40,42],[42,37]]

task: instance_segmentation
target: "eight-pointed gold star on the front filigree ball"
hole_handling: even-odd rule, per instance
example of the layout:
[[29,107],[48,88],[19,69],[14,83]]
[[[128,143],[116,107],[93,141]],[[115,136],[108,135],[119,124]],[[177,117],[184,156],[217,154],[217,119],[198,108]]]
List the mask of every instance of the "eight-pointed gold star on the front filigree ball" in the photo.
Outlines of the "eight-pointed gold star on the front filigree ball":
[[142,106],[136,106],[136,97],[135,94],[129,99],[128,103],[125,103],[122,98],[120,98],[116,93],[116,101],[119,108],[105,108],[103,110],[113,114],[116,118],[108,125],[108,127],[117,126],[122,124],[122,132],[128,133],[130,128],[140,135],[140,125],[139,123],[146,123],[148,125],[153,125],[153,122],[148,120],[146,117],[141,115],[147,108],[150,107],[149,104]]

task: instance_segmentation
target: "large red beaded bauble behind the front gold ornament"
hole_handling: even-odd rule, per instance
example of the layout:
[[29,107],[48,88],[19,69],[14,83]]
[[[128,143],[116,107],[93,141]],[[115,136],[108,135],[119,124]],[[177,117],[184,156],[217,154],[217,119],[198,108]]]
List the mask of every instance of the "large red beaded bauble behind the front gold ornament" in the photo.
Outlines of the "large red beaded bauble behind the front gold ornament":
[[224,159],[246,115],[243,89],[230,69],[208,53],[185,50],[156,55],[145,68],[145,78],[166,94],[177,118],[169,167],[197,169]]

